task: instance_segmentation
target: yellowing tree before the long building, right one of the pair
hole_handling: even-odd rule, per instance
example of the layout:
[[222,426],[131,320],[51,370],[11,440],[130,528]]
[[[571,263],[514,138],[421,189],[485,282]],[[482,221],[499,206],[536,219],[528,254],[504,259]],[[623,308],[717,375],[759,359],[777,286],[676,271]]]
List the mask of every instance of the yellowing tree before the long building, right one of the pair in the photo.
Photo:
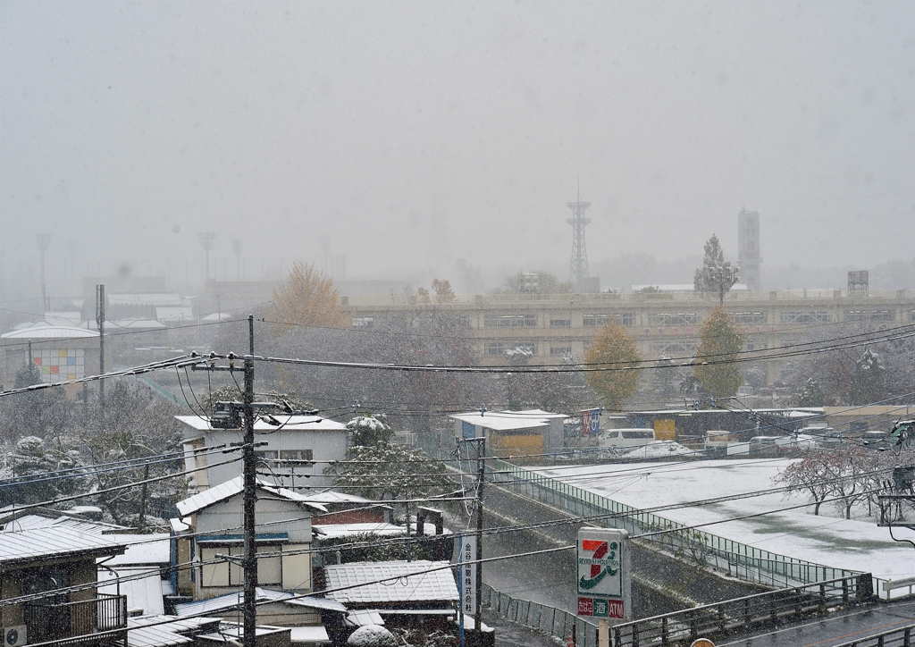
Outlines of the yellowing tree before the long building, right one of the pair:
[[743,373],[735,361],[743,349],[744,334],[724,306],[712,310],[699,329],[699,348],[693,372],[705,391],[714,398],[737,395]]

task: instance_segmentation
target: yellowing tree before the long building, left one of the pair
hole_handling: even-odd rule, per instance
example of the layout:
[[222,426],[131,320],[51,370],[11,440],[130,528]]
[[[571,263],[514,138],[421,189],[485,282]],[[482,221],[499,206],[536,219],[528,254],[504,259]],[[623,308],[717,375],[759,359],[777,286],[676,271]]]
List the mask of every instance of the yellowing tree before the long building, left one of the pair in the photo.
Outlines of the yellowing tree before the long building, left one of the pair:
[[585,353],[587,383],[608,411],[619,411],[623,402],[635,393],[639,384],[641,355],[629,332],[616,322],[608,321]]

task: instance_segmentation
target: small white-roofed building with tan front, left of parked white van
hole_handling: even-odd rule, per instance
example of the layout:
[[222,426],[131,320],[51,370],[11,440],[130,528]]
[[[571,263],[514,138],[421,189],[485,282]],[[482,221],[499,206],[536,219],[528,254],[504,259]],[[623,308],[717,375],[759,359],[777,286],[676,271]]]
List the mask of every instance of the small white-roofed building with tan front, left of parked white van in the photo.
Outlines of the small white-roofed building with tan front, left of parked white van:
[[490,456],[534,457],[563,448],[565,415],[540,409],[469,412],[449,416],[459,439],[485,437]]

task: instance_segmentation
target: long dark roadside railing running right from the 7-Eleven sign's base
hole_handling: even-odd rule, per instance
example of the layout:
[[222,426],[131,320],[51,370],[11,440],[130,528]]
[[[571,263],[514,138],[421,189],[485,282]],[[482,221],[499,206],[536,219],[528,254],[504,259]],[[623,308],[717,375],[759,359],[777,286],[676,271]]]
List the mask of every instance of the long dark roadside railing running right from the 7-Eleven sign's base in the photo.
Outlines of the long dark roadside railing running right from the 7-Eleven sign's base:
[[717,638],[784,618],[825,615],[827,609],[873,599],[872,581],[870,573],[864,573],[633,620],[613,627],[613,644],[615,647],[689,644],[699,637]]

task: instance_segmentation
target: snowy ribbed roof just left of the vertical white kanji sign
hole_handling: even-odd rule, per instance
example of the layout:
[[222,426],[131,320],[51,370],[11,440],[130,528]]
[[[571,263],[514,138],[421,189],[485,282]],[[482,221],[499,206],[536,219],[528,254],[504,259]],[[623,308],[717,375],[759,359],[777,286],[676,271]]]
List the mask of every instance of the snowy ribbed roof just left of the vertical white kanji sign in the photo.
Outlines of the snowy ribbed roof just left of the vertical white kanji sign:
[[[457,601],[458,585],[454,574],[451,568],[442,566],[450,564],[420,560],[325,566],[327,596],[344,604]],[[439,569],[425,572],[436,567]],[[386,581],[378,583],[378,580]],[[334,590],[338,588],[341,590]]]

